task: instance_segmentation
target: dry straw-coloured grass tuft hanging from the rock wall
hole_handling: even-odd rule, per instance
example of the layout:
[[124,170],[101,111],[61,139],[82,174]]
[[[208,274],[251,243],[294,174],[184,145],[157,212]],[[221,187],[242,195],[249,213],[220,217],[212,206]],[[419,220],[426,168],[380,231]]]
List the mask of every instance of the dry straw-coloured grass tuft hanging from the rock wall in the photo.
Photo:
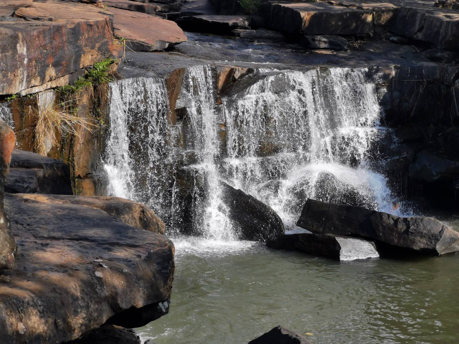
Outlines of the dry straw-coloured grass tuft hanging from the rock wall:
[[[34,109],[37,117],[35,126],[35,152],[46,156],[50,147],[58,144],[59,135],[75,135],[79,138],[78,128],[83,127],[90,132],[99,127],[95,120],[78,117],[72,113],[62,111],[63,104],[48,104]],[[59,138],[59,139],[58,139]]]

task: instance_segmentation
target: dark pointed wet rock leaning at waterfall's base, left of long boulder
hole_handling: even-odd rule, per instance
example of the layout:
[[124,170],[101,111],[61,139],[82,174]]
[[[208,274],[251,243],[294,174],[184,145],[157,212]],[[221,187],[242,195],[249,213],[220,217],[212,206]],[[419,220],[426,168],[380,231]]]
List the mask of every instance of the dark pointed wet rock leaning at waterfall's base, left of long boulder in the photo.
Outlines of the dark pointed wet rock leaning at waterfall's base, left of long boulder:
[[265,242],[284,234],[284,224],[268,205],[241,190],[221,183],[229,218],[239,227],[241,239]]

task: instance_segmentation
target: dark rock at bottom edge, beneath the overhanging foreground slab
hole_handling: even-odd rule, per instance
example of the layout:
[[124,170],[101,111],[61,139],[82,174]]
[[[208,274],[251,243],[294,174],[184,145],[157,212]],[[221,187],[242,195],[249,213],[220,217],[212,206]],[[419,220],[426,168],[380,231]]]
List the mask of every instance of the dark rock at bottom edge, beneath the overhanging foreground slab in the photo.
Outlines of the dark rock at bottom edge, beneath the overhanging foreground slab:
[[141,344],[140,338],[129,328],[103,325],[67,344]]

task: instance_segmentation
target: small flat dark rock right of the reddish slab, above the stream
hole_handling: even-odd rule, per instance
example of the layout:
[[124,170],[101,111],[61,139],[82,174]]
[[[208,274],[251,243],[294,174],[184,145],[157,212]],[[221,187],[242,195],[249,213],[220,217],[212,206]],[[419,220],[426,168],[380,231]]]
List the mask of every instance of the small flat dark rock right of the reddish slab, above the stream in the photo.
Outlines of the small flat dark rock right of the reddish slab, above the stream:
[[199,15],[181,18],[180,25],[190,31],[229,33],[240,26],[250,24],[246,16]]

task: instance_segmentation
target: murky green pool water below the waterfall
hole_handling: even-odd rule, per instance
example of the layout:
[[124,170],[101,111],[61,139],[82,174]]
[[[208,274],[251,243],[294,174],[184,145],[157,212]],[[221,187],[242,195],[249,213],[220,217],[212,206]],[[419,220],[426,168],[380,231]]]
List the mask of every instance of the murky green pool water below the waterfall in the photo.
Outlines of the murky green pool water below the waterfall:
[[459,256],[353,263],[252,242],[175,238],[157,344],[247,343],[279,324],[313,343],[458,343]]

